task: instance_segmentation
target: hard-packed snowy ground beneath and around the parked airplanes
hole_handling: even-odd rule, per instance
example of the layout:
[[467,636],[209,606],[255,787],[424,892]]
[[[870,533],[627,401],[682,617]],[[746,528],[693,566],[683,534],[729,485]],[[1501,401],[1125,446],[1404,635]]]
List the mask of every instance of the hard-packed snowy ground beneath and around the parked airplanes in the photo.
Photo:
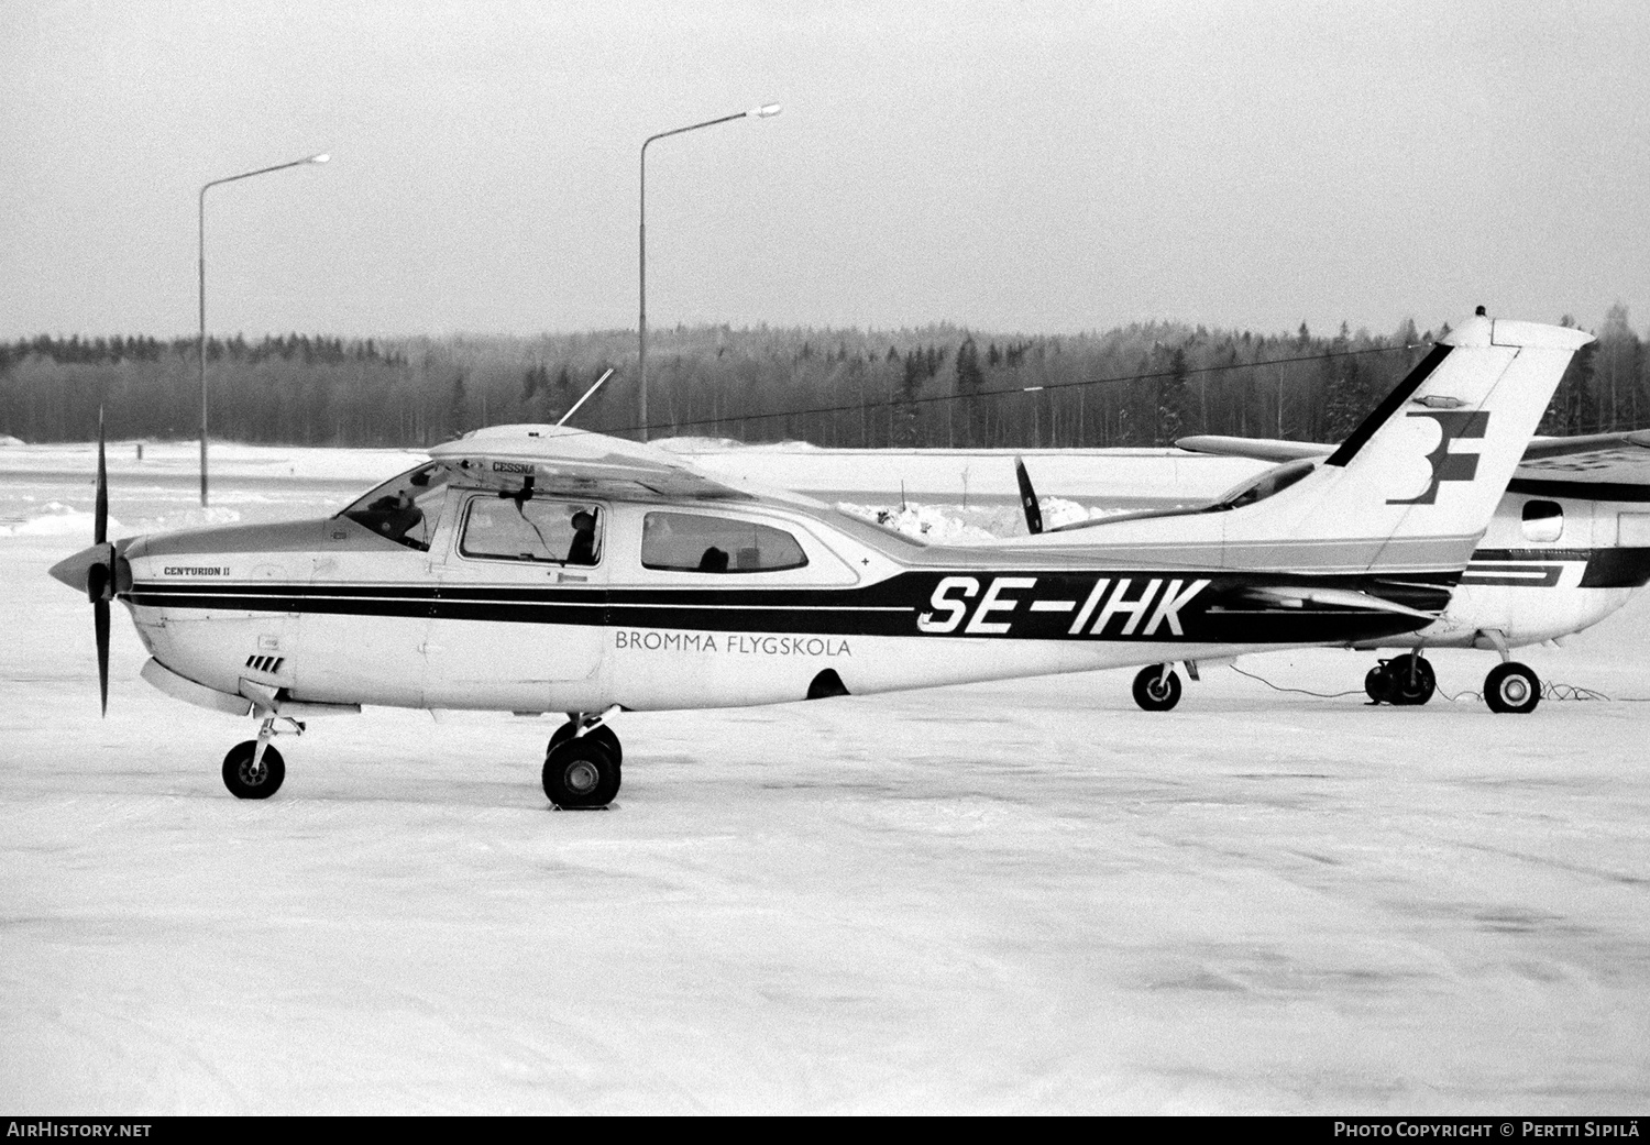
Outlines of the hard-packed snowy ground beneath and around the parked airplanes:
[[[229,452],[206,511],[122,462],[116,535],[406,467]],[[1302,691],[1206,665],[1173,713],[1110,671],[629,714],[617,807],[576,813],[538,785],[553,721],[368,709],[239,802],[254,723],[139,680],[122,609],[97,718],[91,609],[46,576],[89,475],[0,472],[3,1109],[1650,1102],[1643,597],[1520,652],[1610,696],[1523,718],[1464,695],[1493,655],[1437,653],[1459,700],[1399,709],[1332,650],[1236,665]]]

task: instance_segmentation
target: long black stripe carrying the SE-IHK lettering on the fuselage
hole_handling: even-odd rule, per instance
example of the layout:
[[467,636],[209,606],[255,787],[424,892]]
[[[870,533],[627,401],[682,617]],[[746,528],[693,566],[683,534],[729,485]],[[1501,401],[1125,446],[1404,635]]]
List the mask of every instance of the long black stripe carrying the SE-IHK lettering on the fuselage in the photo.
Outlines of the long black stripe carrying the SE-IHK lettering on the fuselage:
[[[1185,571],[904,572],[848,589],[224,584],[145,581],[137,607],[817,635],[1318,643],[1424,627],[1379,607],[1256,605],[1254,589],[1335,587],[1437,612],[1457,574],[1287,576]],[[1378,604],[1374,601],[1373,604]],[[949,624],[949,627],[945,627]],[[1074,630],[1076,629],[1076,630]],[[1127,632],[1124,630],[1127,629]]]

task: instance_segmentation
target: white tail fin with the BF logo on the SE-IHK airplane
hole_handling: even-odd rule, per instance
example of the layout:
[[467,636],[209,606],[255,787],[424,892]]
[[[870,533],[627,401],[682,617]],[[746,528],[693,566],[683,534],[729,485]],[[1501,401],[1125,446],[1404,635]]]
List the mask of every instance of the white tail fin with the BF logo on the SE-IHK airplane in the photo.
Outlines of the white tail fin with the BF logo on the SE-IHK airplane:
[[1224,513],[1228,554],[1304,541],[1315,563],[1341,569],[1462,568],[1589,342],[1566,327],[1470,318],[1312,474]]

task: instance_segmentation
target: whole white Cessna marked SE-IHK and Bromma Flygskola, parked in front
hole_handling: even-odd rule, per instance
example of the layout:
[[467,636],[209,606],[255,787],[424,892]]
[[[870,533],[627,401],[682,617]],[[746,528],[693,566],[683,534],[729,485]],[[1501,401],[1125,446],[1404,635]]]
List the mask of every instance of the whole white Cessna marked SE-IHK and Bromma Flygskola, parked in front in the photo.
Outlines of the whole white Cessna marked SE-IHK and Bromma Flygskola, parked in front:
[[[1089,671],[1424,629],[1500,502],[1574,330],[1473,318],[1330,457],[1221,505],[926,546],[804,497],[554,426],[477,431],[335,516],[107,543],[53,568],[162,691],[261,721],[223,777],[361,704],[568,713],[543,787],[619,790],[624,711]],[[1155,671],[1155,670],[1153,670]]]

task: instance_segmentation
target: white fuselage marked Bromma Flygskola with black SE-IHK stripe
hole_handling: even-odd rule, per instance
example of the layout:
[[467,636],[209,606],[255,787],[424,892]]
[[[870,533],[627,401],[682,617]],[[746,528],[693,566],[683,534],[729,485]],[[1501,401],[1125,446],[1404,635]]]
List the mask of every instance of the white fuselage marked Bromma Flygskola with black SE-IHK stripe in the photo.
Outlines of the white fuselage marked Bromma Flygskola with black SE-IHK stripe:
[[904,546],[772,503],[670,510],[780,533],[799,568],[648,568],[644,533],[660,507],[615,500],[581,502],[602,518],[591,564],[469,553],[465,521],[500,503],[495,490],[449,488],[427,548],[345,516],[139,538],[125,548],[122,599],[153,658],[213,695],[523,713],[785,703],[1340,643],[1416,624],[1218,604],[1275,579],[1266,572],[1200,576],[1071,538]]

